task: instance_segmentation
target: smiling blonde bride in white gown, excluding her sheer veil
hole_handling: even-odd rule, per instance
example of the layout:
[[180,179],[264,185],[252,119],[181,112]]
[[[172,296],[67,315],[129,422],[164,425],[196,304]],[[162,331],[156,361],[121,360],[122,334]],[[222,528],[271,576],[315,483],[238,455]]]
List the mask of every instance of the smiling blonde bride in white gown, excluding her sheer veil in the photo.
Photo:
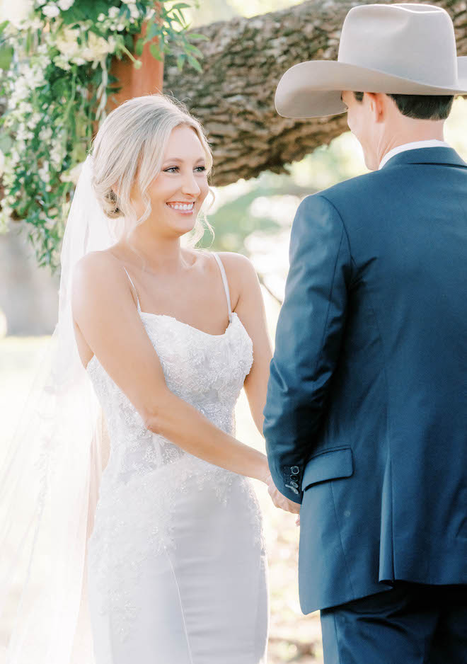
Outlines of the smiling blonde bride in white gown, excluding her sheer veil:
[[[154,95],[115,109],[96,136],[92,189],[122,222],[74,268],[76,345],[110,448],[87,583],[96,664],[258,664],[267,561],[250,478],[275,504],[267,457],[238,442],[244,387],[263,430],[272,357],[258,278],[235,253],[201,251],[212,156],[200,124]],[[91,529],[90,529],[91,530]]]

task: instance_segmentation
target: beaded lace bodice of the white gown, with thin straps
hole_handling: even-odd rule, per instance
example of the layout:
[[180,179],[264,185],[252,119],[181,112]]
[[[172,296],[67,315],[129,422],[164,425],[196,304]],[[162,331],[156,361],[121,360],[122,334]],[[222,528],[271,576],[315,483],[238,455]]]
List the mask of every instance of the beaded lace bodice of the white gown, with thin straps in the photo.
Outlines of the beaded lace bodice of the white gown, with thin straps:
[[[173,316],[141,311],[138,297],[137,306],[168,388],[226,433],[234,435],[235,405],[253,363],[253,343],[238,315],[231,311],[224,266],[217,254],[214,257],[221,269],[229,306],[229,326],[223,334],[206,333]],[[132,282],[131,277],[129,280]],[[96,355],[88,362],[86,371],[103,408],[111,442],[101,486],[138,482],[154,471],[161,483],[170,476],[173,487],[193,473],[200,481],[205,476],[216,477],[219,489],[226,486],[226,476],[233,475],[230,471],[192,456],[146,428],[136,408],[105,372]],[[168,464],[170,469],[166,467]]]

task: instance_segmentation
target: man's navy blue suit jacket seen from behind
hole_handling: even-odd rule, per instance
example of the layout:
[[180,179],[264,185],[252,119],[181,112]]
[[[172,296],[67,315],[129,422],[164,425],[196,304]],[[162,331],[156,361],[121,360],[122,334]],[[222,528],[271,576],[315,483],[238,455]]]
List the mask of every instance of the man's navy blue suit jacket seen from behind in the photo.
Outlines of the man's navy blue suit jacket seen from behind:
[[467,164],[449,147],[305,198],[270,365],[302,612],[467,583]]

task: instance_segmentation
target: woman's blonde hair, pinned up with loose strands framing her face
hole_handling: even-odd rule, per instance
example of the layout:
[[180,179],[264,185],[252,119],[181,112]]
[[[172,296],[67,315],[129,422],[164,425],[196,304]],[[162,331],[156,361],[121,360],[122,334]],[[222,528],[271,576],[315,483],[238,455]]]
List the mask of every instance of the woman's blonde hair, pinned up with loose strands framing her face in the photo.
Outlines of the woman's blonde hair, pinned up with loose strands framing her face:
[[[180,125],[192,127],[200,139],[209,176],[212,152],[202,125],[190,115],[183,103],[173,98],[161,94],[134,97],[109,113],[100,126],[93,141],[92,185],[105,215],[115,219],[114,231],[118,240],[123,237],[129,239],[132,230],[151,214],[147,190],[161,171],[163,154],[172,130]],[[146,205],[139,219],[130,201],[130,192],[136,181]],[[188,246],[197,244],[204,235],[205,227],[213,233],[201,213],[189,234]]]

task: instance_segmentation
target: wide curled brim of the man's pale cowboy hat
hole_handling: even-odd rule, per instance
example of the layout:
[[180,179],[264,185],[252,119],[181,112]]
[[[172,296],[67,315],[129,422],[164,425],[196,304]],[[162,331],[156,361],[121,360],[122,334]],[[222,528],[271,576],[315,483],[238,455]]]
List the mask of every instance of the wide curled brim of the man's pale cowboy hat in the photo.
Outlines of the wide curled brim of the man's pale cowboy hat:
[[319,118],[345,113],[342,91],[405,95],[467,94],[467,57],[458,57],[456,87],[427,85],[377,69],[337,60],[308,60],[287,69],[275,94],[277,113],[284,118]]

